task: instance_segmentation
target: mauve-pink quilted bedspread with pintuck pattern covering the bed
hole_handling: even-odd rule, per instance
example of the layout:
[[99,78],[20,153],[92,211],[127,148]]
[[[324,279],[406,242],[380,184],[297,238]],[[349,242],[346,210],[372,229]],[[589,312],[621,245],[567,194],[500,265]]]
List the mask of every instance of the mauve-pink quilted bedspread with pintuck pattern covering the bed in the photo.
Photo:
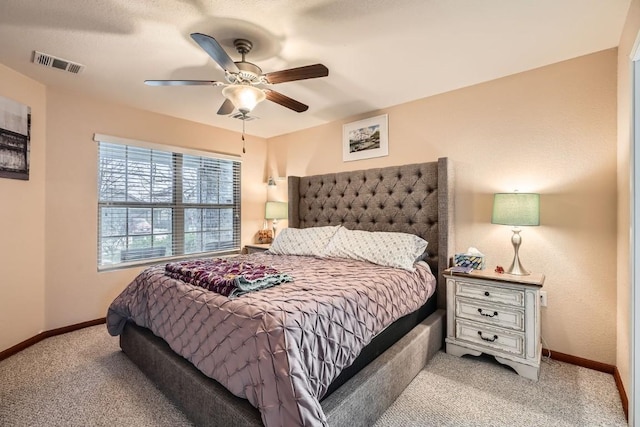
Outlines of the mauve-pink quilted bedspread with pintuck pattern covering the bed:
[[236,259],[294,281],[229,299],[149,267],[113,301],[111,335],[128,319],[257,407],[267,427],[324,426],[320,399],[373,337],[435,291],[415,272],[352,260],[268,253]]

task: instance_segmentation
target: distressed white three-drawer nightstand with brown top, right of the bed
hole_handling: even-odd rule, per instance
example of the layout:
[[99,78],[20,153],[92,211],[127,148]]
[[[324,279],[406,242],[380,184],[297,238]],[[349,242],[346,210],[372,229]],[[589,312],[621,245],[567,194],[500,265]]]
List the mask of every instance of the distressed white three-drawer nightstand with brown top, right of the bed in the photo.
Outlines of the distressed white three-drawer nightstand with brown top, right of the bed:
[[540,288],[544,275],[445,270],[447,353],[489,354],[523,377],[540,375]]

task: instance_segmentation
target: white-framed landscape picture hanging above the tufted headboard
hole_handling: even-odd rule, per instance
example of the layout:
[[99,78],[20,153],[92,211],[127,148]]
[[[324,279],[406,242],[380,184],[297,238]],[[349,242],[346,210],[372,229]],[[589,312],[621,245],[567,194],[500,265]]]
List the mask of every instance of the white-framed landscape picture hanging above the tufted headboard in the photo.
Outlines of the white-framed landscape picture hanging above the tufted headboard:
[[386,114],[342,126],[342,161],[389,155],[389,128]]

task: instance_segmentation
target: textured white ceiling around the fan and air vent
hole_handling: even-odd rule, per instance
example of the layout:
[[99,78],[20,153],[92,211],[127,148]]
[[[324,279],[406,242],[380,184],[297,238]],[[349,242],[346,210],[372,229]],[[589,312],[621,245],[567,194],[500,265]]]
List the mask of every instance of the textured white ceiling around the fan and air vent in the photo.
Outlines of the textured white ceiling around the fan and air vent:
[[[236,38],[264,72],[323,63],[329,76],[273,89],[310,106],[265,101],[247,133],[272,137],[618,45],[630,0],[2,0],[0,63],[47,86],[239,131],[216,111],[224,81],[189,34]],[[31,63],[34,50],[86,65]],[[0,82],[0,87],[2,82]]]

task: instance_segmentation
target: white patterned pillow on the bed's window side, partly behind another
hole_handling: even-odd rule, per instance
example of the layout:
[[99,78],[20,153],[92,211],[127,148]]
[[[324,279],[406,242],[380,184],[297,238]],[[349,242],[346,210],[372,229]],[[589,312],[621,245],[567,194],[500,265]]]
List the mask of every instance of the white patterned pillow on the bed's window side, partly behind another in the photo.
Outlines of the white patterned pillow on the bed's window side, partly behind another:
[[322,257],[339,225],[311,228],[285,228],[276,235],[269,252],[276,255]]

